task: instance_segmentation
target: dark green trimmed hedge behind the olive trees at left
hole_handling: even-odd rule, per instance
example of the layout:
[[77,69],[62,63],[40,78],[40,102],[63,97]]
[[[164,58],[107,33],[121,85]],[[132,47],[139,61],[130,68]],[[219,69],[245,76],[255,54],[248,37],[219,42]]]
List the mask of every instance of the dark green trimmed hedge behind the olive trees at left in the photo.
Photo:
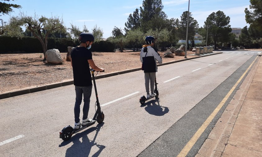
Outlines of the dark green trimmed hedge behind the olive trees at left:
[[[67,47],[76,47],[79,41],[69,38],[48,38],[47,49],[58,49],[60,52],[67,52]],[[91,51],[114,52],[114,44],[107,41],[99,41],[92,44]],[[0,37],[0,53],[43,53],[42,45],[37,38],[32,37]]]

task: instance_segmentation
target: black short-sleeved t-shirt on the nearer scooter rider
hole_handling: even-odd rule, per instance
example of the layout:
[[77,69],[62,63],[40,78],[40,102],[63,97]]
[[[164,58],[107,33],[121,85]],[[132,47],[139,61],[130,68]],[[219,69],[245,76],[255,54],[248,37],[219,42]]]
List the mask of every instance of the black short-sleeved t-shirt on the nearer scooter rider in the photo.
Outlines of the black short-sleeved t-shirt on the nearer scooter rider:
[[88,60],[92,59],[92,52],[85,47],[75,47],[71,51],[74,74],[74,85],[86,87],[92,85]]

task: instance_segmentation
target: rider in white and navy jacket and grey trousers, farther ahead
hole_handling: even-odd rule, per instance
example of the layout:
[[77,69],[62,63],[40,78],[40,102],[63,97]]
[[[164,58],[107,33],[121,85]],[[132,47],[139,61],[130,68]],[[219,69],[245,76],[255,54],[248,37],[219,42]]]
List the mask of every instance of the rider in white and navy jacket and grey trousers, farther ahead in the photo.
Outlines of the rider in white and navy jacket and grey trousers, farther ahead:
[[[147,36],[146,37],[147,45],[143,45],[143,48],[140,52],[140,61],[143,64],[143,69],[145,74],[145,86],[146,86],[147,98],[149,98],[150,96],[152,97],[156,96],[156,93],[154,93],[154,82],[157,72],[156,61],[158,61],[158,63],[162,63],[162,58],[157,53],[157,49],[153,47],[154,42],[155,42],[154,37]],[[149,93],[149,82],[150,82],[151,93]]]

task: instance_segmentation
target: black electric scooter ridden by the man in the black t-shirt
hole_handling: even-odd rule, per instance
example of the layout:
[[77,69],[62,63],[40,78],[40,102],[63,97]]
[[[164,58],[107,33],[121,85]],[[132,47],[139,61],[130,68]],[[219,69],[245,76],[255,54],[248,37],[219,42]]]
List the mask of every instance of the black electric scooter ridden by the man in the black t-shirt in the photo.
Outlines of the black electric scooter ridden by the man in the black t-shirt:
[[[90,71],[92,72],[93,82],[94,82],[94,87],[95,87],[95,92],[96,92],[96,98],[97,98],[97,101],[96,101],[96,104],[95,104],[95,105],[97,105],[96,113],[95,113],[95,115],[94,115],[91,123],[88,123],[88,124],[85,125],[85,126],[80,126],[79,129],[74,129],[74,128],[71,127],[70,125],[68,125],[68,126],[66,126],[65,128],[63,128],[62,131],[59,132],[59,134],[60,134],[59,138],[61,138],[61,139],[64,140],[64,141],[69,140],[74,133],[79,132],[79,131],[81,131],[81,130],[84,130],[85,128],[93,125],[96,121],[97,121],[97,123],[99,123],[99,124],[104,121],[105,115],[104,115],[104,113],[101,111],[100,104],[99,104],[99,101],[98,101],[97,87],[96,87],[96,81],[95,81],[95,76],[94,76],[94,72],[95,72],[96,70],[90,69]],[[105,70],[103,70],[103,71],[101,71],[101,72],[104,72],[104,71],[105,71]]]

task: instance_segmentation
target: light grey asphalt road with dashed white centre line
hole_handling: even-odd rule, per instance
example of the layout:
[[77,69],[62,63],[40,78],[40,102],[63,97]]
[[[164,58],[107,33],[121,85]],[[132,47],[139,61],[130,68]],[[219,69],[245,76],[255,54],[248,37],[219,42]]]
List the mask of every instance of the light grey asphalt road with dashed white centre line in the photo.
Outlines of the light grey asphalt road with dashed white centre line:
[[[234,52],[160,66],[156,75],[159,99],[151,99],[142,106],[139,98],[146,94],[142,71],[98,79],[104,123],[96,123],[66,142],[59,138],[59,132],[66,125],[74,124],[73,85],[2,99],[0,156],[155,156],[150,147],[170,128],[192,126],[188,129],[191,133],[180,138],[181,144],[173,143],[179,145],[169,153],[174,156],[197,128],[186,118],[193,118],[189,111],[195,110],[195,115],[203,117],[208,115],[257,53]],[[225,80],[229,81],[225,83]],[[195,106],[207,98],[213,105],[200,112]],[[93,91],[89,117],[95,112],[94,104]],[[186,120],[181,123],[183,119]]]

